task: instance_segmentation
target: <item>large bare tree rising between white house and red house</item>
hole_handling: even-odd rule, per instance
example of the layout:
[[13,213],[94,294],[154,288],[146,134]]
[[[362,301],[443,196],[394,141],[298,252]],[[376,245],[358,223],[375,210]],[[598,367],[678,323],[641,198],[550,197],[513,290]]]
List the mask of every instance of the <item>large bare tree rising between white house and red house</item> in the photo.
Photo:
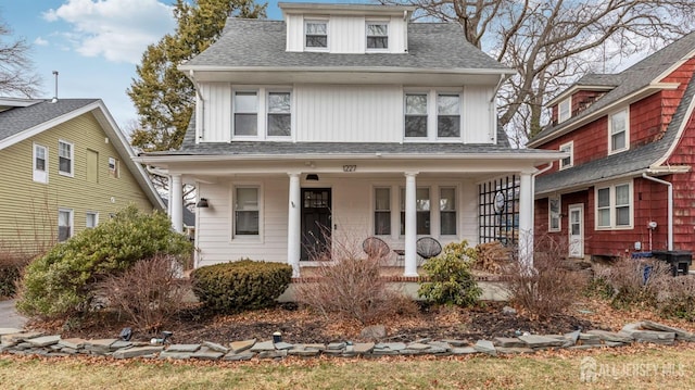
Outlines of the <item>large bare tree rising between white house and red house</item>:
[[693,0],[381,1],[460,23],[469,42],[518,72],[500,95],[500,123],[518,144],[547,123],[543,103],[578,76],[612,71],[695,25]]

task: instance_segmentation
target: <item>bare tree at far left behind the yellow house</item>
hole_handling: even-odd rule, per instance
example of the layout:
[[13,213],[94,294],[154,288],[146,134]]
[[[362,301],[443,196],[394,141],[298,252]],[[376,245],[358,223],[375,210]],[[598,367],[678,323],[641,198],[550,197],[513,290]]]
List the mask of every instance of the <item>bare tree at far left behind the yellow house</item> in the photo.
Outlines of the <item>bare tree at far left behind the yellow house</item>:
[[29,46],[24,39],[7,38],[12,29],[0,18],[0,95],[31,98],[38,95],[41,79],[31,73]]

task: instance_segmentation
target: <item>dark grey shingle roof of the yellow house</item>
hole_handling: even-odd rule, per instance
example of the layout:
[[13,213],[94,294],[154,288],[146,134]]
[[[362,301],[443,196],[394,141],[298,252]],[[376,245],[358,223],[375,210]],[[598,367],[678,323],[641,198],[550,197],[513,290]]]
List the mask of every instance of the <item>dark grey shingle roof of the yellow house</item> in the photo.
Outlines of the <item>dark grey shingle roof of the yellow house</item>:
[[0,112],[0,140],[65,115],[99,99],[37,100],[36,104]]

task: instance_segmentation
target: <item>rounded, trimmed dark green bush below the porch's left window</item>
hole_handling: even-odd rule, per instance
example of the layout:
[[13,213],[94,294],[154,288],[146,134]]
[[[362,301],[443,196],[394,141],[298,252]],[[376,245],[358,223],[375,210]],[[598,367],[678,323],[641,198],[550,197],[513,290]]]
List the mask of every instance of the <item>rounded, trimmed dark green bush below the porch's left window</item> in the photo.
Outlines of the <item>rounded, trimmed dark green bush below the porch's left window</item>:
[[195,297],[220,313],[270,306],[291,280],[290,265],[251,260],[208,265],[191,274]]

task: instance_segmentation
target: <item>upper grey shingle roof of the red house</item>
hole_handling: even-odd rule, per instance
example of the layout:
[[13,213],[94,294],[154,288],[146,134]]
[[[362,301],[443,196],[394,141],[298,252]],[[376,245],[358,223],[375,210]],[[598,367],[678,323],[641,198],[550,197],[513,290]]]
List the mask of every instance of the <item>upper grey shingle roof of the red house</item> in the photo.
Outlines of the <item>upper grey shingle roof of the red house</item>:
[[573,116],[559,125],[545,128],[529,140],[529,142],[552,136],[554,133],[560,133],[566,127],[571,126],[574,122],[601,111],[618,100],[647,87],[650,83],[655,81],[659,75],[673,66],[673,64],[679,60],[690,54],[693,50],[695,50],[695,32],[685,35],[681,39],[653,53],[617,75],[586,76],[587,79],[582,81],[584,85],[599,83],[603,80],[606,83],[605,85],[615,85],[617,87],[598,99],[579,115]]

